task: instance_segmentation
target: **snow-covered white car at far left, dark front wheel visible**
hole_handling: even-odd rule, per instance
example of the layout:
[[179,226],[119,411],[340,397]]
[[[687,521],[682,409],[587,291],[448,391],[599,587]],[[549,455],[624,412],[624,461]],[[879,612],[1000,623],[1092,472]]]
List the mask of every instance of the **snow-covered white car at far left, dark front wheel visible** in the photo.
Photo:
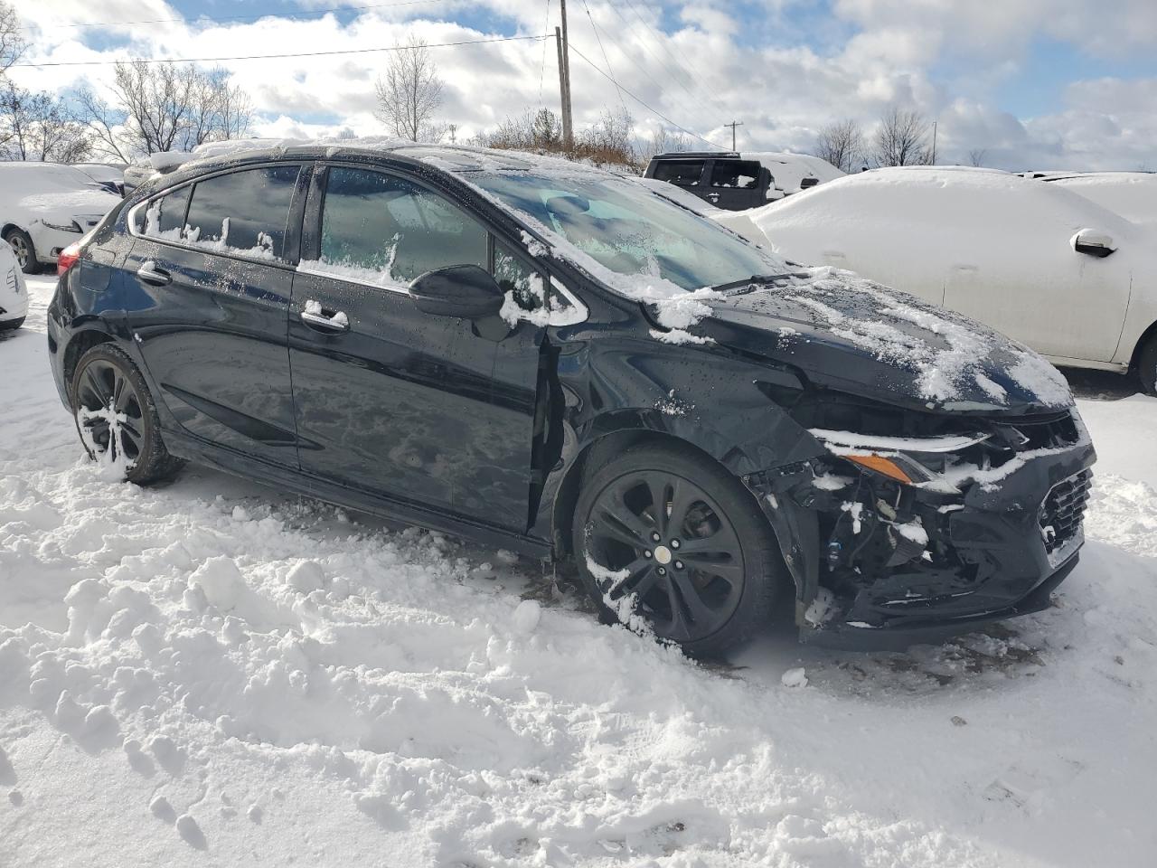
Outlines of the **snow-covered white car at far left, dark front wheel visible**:
[[25,274],[54,264],[119,203],[119,196],[71,165],[0,163],[0,237]]

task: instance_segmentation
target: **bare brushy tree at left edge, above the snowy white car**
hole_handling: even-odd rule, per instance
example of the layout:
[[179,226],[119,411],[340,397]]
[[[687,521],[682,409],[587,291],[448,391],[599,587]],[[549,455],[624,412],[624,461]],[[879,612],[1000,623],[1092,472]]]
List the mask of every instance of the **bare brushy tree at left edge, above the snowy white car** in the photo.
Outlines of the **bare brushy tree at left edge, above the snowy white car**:
[[72,163],[91,149],[88,130],[53,95],[13,82],[0,90],[0,159]]

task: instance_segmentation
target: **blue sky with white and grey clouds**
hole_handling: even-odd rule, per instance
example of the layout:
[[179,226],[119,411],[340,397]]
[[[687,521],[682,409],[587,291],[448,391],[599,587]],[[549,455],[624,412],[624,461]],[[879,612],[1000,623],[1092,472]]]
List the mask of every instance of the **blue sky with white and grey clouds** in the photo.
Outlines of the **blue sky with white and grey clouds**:
[[[540,34],[546,0],[410,3],[354,0],[13,0],[35,60],[218,57]],[[51,6],[51,9],[46,9]],[[1157,168],[1157,2],[1115,0],[569,0],[575,49],[614,74],[642,135],[659,127],[743,146],[806,149],[843,117],[867,131],[891,105],[939,122],[957,159],[985,149],[1003,168]],[[373,8],[366,8],[373,7]],[[588,7],[590,14],[588,16]],[[558,21],[551,0],[550,28]],[[281,16],[255,24],[238,16]],[[198,16],[220,19],[205,22]],[[69,21],[178,17],[177,24],[62,28]],[[596,22],[597,34],[591,20]],[[288,19],[296,19],[289,21]],[[602,42],[602,45],[599,44]],[[553,44],[440,50],[447,122],[465,132],[557,104]],[[604,58],[604,51],[606,58]],[[95,52],[95,53],[94,53]],[[258,128],[382,132],[373,80],[385,56],[224,64],[255,97]],[[576,123],[620,105],[613,86],[572,59]],[[104,67],[27,69],[30,84],[101,86]],[[543,82],[541,90],[539,82]],[[541,97],[539,94],[541,93]]]

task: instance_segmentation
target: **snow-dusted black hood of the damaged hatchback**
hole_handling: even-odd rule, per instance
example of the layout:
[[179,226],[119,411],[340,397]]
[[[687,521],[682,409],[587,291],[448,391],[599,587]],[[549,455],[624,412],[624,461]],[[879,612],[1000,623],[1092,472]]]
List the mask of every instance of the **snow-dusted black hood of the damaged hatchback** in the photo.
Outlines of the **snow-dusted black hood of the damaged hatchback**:
[[922,410],[1055,412],[1068,383],[985,325],[835,269],[801,270],[708,301],[697,331],[811,382]]

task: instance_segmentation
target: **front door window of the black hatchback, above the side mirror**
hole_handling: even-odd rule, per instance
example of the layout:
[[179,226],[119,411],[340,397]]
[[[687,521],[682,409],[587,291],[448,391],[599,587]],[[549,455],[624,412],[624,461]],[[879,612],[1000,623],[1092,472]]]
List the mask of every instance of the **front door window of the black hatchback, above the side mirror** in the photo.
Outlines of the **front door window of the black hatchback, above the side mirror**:
[[326,179],[320,255],[331,271],[392,286],[451,265],[489,266],[487,231],[466,212],[404,178],[341,167]]

